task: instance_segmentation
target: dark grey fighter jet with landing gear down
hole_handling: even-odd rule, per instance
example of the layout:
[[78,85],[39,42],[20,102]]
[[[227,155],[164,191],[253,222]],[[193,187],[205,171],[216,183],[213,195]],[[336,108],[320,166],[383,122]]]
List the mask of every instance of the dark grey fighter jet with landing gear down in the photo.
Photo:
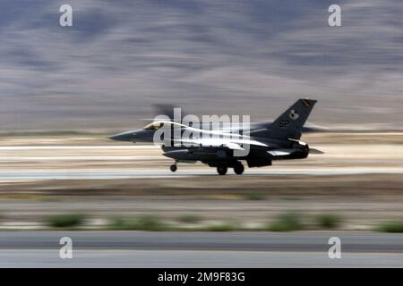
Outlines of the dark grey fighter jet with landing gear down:
[[[220,130],[201,130],[172,121],[154,121],[141,130],[116,134],[110,139],[129,142],[156,142],[164,156],[175,160],[170,166],[176,172],[177,163],[200,161],[216,167],[220,175],[233,168],[236,174],[244,172],[245,161],[249,168],[271,165],[274,160],[304,159],[311,153],[301,139],[301,130],[316,100],[298,99],[274,122],[258,124],[259,128],[238,134]],[[184,138],[184,134],[192,134]]]

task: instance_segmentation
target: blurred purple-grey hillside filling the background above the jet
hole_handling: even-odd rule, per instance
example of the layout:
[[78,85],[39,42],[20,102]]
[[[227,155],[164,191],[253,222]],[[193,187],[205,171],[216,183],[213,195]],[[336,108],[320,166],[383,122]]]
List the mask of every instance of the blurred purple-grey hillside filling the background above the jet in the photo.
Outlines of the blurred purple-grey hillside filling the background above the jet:
[[[152,104],[272,119],[299,97],[310,120],[402,129],[403,3],[71,0],[0,3],[0,131],[141,127]],[[333,3],[331,3],[333,4]]]

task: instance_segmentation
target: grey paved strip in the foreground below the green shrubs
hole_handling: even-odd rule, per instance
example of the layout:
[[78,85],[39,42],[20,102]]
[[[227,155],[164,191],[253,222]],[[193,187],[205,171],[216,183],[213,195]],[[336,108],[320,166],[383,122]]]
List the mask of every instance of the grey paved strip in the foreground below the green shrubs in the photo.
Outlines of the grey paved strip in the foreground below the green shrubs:
[[[73,258],[59,240],[73,240]],[[330,259],[330,237],[341,258]],[[403,267],[403,235],[372,232],[0,232],[1,267]]]

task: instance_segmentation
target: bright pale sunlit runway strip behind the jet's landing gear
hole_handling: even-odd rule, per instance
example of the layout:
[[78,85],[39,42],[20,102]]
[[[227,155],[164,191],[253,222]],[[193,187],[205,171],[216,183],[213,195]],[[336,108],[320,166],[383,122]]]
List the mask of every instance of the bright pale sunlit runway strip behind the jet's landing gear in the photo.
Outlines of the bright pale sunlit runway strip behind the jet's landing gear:
[[[47,139],[39,141],[46,145],[0,146],[0,181],[176,179],[217,175],[215,168],[203,164],[179,163],[177,172],[170,172],[168,166],[173,161],[162,156],[158,146],[73,145],[72,140],[65,139],[66,145],[60,145],[61,139]],[[32,142],[25,138],[9,139],[5,143]],[[401,145],[345,143],[316,144],[315,147],[325,153],[304,160],[276,161],[262,168],[246,168],[243,176],[403,173]],[[227,175],[234,175],[232,169]]]

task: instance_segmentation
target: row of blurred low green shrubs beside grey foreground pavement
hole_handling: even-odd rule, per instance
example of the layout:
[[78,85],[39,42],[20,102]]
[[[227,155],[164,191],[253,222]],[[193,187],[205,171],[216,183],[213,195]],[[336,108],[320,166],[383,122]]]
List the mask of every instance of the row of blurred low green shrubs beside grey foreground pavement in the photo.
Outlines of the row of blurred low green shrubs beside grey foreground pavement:
[[[87,214],[53,214],[44,219],[51,228],[77,228],[88,223]],[[305,215],[298,212],[279,214],[270,223],[256,227],[245,227],[234,220],[203,223],[200,214],[182,214],[176,217],[176,223],[167,223],[158,215],[142,214],[136,216],[113,216],[107,221],[107,229],[119,231],[303,231],[337,229],[342,219],[337,214]],[[101,226],[100,228],[105,228]],[[384,223],[378,231],[403,232],[403,222]]]

